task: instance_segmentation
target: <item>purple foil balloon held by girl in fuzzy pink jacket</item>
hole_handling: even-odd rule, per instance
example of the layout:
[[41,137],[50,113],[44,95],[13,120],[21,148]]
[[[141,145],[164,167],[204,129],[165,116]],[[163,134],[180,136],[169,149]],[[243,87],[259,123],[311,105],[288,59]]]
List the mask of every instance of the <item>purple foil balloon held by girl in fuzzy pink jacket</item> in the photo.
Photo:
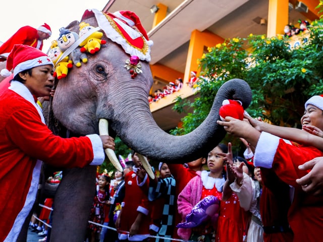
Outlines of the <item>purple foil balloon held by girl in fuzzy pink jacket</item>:
[[186,215],[186,221],[177,224],[178,228],[193,228],[219,212],[220,201],[217,197],[207,196],[199,201],[192,211]]

